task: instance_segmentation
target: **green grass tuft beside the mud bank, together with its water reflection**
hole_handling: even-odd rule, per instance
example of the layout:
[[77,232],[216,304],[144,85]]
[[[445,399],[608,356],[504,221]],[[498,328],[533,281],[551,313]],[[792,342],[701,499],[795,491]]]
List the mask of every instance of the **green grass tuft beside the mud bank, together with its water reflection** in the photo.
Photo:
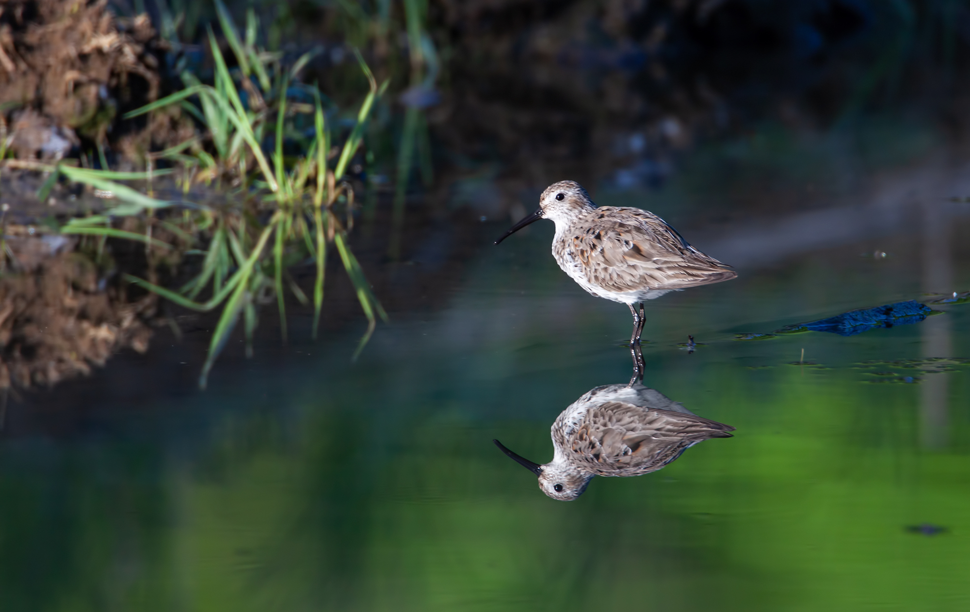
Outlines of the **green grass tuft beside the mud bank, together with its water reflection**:
[[[294,119],[288,116],[292,114],[288,112],[291,105],[287,102],[290,81],[310,55],[305,54],[286,70],[277,55],[256,46],[258,22],[252,13],[247,15],[246,30],[241,37],[231,15],[219,0],[216,0],[216,12],[239,68],[229,70],[210,29],[209,43],[215,64],[212,84],[184,73],[184,89],[125,115],[125,118],[136,117],[178,106],[202,124],[205,128],[202,138],[190,138],[151,155],[151,160],[164,161],[173,168],[114,172],[61,164],[49,168],[51,175],[39,194],[46,198],[58,176],[112,193],[110,201],[116,203],[105,215],[73,220],[63,226],[61,231],[64,233],[100,240],[109,237],[137,240],[146,244],[146,252],[153,249],[177,251],[175,244],[153,237],[152,228],[158,226],[167,230],[167,235],[178,238],[185,248],[204,254],[198,272],[178,289],[165,288],[135,276],[125,277],[183,308],[199,312],[221,309],[199,378],[203,388],[241,314],[246,354],[251,355],[253,331],[258,322],[256,305],[268,293],[275,294],[285,341],[285,289],[288,287],[301,302],[308,302],[304,292],[289,278],[286,268],[307,258],[313,260],[316,268],[312,298],[312,333],[316,337],[323,304],[327,250],[331,244],[336,245],[343,268],[368,319],[367,331],[358,342],[353,358],[357,358],[371,339],[377,318],[387,321],[387,314],[347,244],[354,193],[342,179],[361,146],[373,106],[383,95],[388,81],[378,85],[364,58],[356,53],[370,88],[333,168],[328,161],[332,139],[330,123],[319,93],[315,88],[294,83],[292,87],[305,87],[313,95],[313,136],[303,154],[286,157],[285,138],[299,132]],[[306,104],[292,106],[307,108],[300,112],[308,112],[310,108]],[[273,139],[273,146],[268,157],[264,147],[269,137]],[[107,164],[103,163],[103,168],[107,168]],[[150,180],[173,173],[182,181],[186,194],[193,181],[215,181],[220,186],[228,183],[236,189],[232,195],[237,203],[220,207],[155,199],[124,184],[126,181],[149,181],[146,191],[150,194],[153,193]],[[155,214],[161,212],[165,214]],[[145,232],[131,231],[128,226],[114,228],[113,219],[118,217],[137,218]],[[273,246],[268,248],[271,238]],[[209,298],[202,301],[200,296],[204,294]]]

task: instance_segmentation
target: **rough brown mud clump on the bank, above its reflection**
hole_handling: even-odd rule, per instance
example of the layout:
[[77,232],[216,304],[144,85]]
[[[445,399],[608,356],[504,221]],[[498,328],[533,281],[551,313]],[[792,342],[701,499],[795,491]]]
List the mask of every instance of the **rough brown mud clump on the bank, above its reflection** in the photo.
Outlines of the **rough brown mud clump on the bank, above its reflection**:
[[168,49],[147,15],[118,17],[107,0],[0,3],[5,148],[29,160],[109,147],[118,162],[131,164],[149,149],[193,136],[178,112],[156,113],[150,124],[120,120],[168,87]]

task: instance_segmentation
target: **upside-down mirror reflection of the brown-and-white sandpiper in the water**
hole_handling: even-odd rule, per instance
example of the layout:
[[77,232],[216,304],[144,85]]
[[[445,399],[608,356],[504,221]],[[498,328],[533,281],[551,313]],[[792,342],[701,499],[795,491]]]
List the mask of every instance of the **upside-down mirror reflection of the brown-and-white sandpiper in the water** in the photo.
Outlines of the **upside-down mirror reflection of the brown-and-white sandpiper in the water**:
[[493,440],[502,452],[539,477],[554,500],[575,500],[590,479],[657,472],[694,444],[730,438],[734,428],[691,413],[642,384],[591,389],[552,425],[553,459],[539,465]]

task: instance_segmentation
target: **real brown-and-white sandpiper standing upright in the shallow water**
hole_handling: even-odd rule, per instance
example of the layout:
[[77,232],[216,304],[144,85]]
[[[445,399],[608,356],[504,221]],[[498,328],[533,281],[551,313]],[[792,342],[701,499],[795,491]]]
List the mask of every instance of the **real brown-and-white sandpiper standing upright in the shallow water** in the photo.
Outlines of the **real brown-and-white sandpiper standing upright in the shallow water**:
[[630,307],[630,347],[639,343],[643,332],[644,301],[737,276],[727,264],[696,250],[652,212],[629,206],[598,207],[574,181],[547,187],[539,209],[495,243],[539,219],[556,223],[552,255],[572,280],[597,297]]

